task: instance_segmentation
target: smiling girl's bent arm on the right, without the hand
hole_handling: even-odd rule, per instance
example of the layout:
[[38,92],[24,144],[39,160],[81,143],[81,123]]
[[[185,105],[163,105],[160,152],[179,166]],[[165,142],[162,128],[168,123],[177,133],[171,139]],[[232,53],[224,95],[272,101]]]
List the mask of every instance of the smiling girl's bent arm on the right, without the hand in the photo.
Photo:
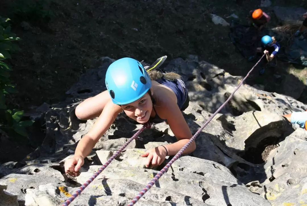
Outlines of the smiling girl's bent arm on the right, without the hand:
[[[172,130],[178,140],[175,143],[164,146],[168,151],[168,155],[175,155],[192,138],[192,133],[178,105],[174,101],[168,102],[167,106],[163,110],[163,114],[167,119],[169,128]],[[183,154],[190,153],[195,149],[196,144],[195,141],[193,141],[183,152]]]

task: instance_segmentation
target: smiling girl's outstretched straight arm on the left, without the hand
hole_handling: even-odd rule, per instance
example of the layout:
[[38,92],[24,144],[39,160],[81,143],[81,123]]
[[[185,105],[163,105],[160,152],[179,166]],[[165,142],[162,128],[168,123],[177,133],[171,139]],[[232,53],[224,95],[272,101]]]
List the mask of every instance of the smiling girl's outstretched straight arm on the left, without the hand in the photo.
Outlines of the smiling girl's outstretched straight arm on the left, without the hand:
[[89,155],[101,136],[107,132],[111,124],[113,124],[121,110],[122,108],[119,105],[115,105],[112,101],[109,101],[103,108],[102,113],[95,121],[91,130],[79,141],[76,147],[75,156],[85,158]]

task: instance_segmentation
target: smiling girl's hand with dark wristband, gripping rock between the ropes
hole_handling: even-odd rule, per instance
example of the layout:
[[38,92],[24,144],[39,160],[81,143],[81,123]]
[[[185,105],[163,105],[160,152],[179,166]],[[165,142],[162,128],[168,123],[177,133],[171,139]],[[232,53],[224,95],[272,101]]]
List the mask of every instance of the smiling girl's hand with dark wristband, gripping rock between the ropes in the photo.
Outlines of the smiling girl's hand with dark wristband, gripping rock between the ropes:
[[141,154],[141,157],[147,157],[145,166],[150,166],[150,168],[153,168],[153,166],[161,165],[161,163],[165,160],[166,150],[162,146],[155,147],[146,151],[144,154]]

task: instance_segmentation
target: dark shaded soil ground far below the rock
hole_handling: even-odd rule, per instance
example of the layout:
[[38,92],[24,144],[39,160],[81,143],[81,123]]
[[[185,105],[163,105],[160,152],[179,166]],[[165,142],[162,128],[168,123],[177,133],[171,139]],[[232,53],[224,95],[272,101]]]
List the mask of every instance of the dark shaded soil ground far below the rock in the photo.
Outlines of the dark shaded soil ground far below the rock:
[[[29,6],[33,2],[41,6]],[[209,14],[230,21],[227,17],[235,13],[247,24],[249,11],[259,5],[260,0],[1,0],[0,15],[10,17],[13,32],[22,39],[17,43],[21,51],[7,61],[19,91],[8,103],[27,110],[62,101],[80,75],[96,68],[103,56],[153,62],[163,55],[171,60],[195,54],[231,75],[245,76],[253,63],[236,52],[229,27],[215,25]],[[306,8],[306,0],[276,0],[275,5]],[[278,26],[271,9],[264,10],[272,17],[268,26]],[[291,68],[278,62],[281,74]],[[251,84],[274,91],[271,79],[269,72]]]

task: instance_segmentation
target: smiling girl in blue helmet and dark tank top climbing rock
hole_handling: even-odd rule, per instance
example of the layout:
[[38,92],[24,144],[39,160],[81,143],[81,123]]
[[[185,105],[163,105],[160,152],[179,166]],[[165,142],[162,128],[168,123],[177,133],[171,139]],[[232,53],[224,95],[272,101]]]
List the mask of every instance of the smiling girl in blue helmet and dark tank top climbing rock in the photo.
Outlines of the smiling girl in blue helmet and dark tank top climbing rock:
[[[108,67],[105,83],[106,91],[84,100],[76,107],[75,113],[79,119],[98,118],[79,141],[75,155],[66,160],[64,167],[67,174],[78,174],[84,158],[121,112],[139,124],[167,121],[178,140],[142,154],[142,157],[147,157],[146,167],[160,165],[166,156],[175,155],[191,139],[192,133],[181,113],[188,107],[189,98],[180,75],[173,72],[162,74],[157,70],[147,72],[137,60],[122,58]],[[183,154],[195,148],[193,142]]]

